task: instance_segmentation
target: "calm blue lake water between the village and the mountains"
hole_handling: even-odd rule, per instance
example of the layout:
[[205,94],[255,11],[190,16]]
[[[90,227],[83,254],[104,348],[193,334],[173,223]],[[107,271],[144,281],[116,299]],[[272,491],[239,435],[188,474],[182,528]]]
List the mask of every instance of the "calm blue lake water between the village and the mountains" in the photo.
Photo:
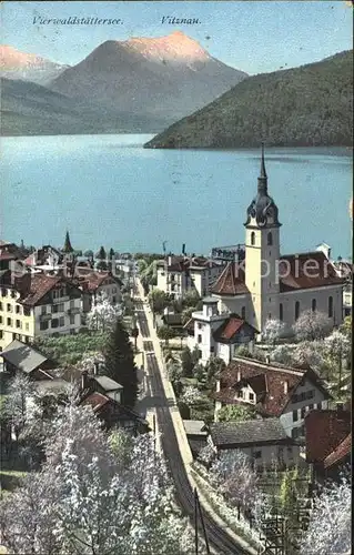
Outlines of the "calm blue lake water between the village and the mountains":
[[[150,135],[1,139],[2,226],[8,241],[75,249],[208,253],[244,242],[259,150],[146,150]],[[282,253],[326,242],[351,254],[350,150],[266,150]]]

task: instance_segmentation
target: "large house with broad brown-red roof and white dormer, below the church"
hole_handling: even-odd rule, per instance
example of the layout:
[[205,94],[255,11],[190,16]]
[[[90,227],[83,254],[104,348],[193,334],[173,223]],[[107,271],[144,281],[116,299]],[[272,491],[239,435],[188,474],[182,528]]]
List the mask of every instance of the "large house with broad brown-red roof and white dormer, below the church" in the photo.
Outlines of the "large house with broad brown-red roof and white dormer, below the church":
[[332,398],[312,370],[295,370],[249,359],[235,359],[216,382],[215,421],[225,405],[253,407],[261,418],[280,420],[287,436],[305,435],[305,415],[327,408]]

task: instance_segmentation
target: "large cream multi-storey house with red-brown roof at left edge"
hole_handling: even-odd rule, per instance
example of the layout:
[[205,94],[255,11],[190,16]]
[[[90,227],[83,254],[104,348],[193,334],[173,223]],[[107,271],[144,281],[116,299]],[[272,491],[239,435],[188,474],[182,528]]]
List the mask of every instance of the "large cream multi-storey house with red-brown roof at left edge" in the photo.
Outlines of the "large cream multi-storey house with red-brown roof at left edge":
[[0,351],[13,340],[31,343],[39,335],[72,334],[81,327],[82,292],[55,273],[2,275]]

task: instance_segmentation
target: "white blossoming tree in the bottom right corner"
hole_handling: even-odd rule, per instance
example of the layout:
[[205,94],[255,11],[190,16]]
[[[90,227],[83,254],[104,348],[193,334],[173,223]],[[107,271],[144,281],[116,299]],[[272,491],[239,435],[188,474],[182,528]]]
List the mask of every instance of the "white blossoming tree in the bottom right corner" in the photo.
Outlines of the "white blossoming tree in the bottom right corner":
[[350,476],[328,483],[314,501],[310,525],[301,542],[301,555],[352,553],[352,484]]

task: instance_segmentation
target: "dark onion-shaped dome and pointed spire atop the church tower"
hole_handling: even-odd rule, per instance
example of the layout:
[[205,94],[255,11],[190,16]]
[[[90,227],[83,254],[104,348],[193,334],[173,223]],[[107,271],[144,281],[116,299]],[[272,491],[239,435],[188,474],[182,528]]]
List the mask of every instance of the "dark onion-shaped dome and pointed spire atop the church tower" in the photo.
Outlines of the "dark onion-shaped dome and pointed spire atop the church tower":
[[267,192],[267,175],[264,161],[264,143],[262,143],[261,173],[259,176],[257,194],[247,208],[247,220],[245,225],[255,220],[257,226],[280,226],[277,220],[277,206]]

